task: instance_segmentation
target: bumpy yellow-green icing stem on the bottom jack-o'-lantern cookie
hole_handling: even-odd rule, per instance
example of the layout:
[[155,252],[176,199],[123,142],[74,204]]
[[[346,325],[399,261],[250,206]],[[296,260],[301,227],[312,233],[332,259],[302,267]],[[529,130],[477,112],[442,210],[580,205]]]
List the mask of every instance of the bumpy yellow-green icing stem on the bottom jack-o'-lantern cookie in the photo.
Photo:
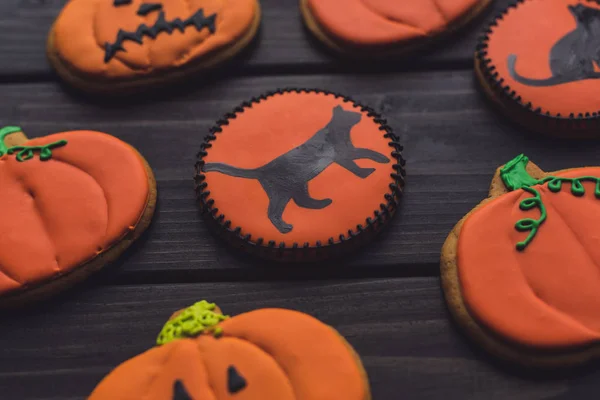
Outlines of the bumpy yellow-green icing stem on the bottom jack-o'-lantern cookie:
[[229,316],[214,312],[217,305],[202,300],[183,310],[177,317],[168,321],[156,339],[161,346],[176,339],[195,337],[203,333],[212,333],[215,337],[223,334],[219,322]]

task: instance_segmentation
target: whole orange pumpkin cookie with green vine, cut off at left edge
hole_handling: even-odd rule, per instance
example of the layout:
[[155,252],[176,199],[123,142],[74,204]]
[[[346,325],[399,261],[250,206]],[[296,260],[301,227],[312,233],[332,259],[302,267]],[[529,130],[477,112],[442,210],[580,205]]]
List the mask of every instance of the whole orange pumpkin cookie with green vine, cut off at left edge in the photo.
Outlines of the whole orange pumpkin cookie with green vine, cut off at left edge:
[[39,300],[116,259],[150,224],[156,185],[131,146],[99,132],[28,140],[0,129],[0,308]]

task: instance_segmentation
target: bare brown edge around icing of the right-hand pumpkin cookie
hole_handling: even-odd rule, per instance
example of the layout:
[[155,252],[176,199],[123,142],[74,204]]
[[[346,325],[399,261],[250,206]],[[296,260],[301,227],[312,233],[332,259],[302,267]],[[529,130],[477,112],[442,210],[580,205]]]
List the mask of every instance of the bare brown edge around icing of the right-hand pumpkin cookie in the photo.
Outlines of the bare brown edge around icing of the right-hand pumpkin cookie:
[[[462,296],[461,284],[458,277],[457,254],[460,231],[462,225],[472,213],[478,211],[481,207],[485,207],[488,203],[496,200],[498,197],[508,193],[508,190],[500,177],[501,168],[502,166],[499,167],[494,174],[490,185],[489,197],[484,199],[461,218],[446,238],[442,247],[440,257],[440,279],[442,291],[450,314],[460,329],[487,352],[503,361],[518,364],[525,368],[542,368],[546,370],[568,368],[586,364],[600,358],[600,346],[597,344],[576,346],[570,349],[543,350],[512,342],[506,338],[502,338],[499,334],[486,327],[482,322],[479,322],[469,311]],[[526,166],[527,172],[538,179],[581,168],[586,167],[544,172],[531,161]]]

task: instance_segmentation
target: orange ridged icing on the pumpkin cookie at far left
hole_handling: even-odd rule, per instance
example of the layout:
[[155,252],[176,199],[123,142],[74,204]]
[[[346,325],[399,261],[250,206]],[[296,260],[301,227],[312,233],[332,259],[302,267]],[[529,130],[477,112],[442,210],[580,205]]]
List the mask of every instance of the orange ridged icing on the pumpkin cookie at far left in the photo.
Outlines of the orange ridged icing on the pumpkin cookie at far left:
[[[52,149],[46,161],[37,152],[22,162],[15,154],[0,159],[0,176],[9,174],[17,182],[16,192],[10,196],[5,182],[4,196],[0,198],[5,203],[2,209],[8,212],[3,217],[3,228],[13,220],[15,225],[9,231],[17,240],[0,241],[0,246],[5,246],[0,254],[9,257],[1,264],[4,271],[10,269],[8,275],[19,277],[20,281],[15,285],[10,280],[0,280],[1,295],[42,284],[87,265],[111,250],[146,214],[151,200],[151,172],[146,171],[144,161],[133,148],[112,136],[88,131],[49,135],[23,145],[42,146],[58,139],[66,139],[67,143]],[[23,209],[25,206],[29,211]],[[35,218],[25,224],[22,219],[29,216]],[[37,236],[32,233],[34,226],[41,229]],[[34,246],[42,245],[44,238],[51,241],[44,245],[46,255],[42,257]],[[19,243],[25,246],[23,251],[16,250]]]

